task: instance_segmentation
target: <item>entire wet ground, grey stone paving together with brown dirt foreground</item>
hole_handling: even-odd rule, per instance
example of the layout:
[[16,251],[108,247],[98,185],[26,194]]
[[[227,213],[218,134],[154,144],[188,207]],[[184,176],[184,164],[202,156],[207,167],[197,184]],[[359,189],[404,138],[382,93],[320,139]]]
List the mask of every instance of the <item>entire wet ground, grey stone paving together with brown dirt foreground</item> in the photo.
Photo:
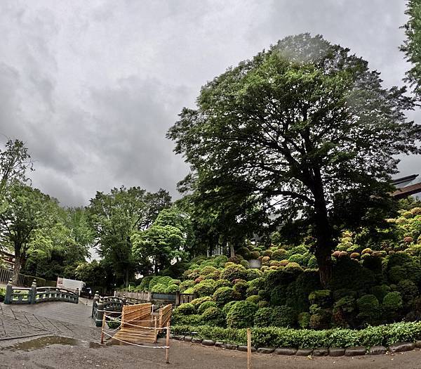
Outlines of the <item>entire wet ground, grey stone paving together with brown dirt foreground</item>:
[[[72,319],[74,319],[72,321]],[[91,321],[91,306],[66,302],[36,305],[0,304],[0,369],[183,368],[242,369],[246,353],[171,340],[170,364],[165,349],[107,341]],[[158,346],[164,346],[159,339]],[[359,357],[297,357],[253,354],[253,369],[421,368],[421,351]]]

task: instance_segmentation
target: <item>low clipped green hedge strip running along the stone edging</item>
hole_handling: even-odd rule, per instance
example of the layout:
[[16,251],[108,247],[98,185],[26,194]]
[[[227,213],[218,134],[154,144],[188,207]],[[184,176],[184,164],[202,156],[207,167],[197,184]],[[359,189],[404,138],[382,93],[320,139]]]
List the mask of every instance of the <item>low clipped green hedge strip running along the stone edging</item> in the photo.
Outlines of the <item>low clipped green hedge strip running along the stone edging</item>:
[[[208,325],[173,325],[175,335],[192,335],[234,344],[246,344],[246,329],[219,328]],[[369,326],[362,330],[295,330],[290,328],[252,328],[252,344],[255,347],[295,347],[316,349],[318,347],[370,348],[377,345],[388,347],[396,342],[415,342],[421,339],[421,322],[392,323]]]

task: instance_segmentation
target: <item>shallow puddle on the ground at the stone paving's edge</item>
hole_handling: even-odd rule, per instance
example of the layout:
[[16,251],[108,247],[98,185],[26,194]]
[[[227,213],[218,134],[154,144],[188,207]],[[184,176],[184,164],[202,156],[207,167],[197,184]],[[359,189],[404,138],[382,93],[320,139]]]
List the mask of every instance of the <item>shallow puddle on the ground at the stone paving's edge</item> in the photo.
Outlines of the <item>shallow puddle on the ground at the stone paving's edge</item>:
[[85,347],[87,349],[99,349],[100,344],[95,342],[83,341],[81,339],[74,339],[68,337],[46,336],[30,339],[29,341],[19,342],[4,349],[10,351],[32,351],[36,349],[44,349],[53,344],[60,344],[63,346]]

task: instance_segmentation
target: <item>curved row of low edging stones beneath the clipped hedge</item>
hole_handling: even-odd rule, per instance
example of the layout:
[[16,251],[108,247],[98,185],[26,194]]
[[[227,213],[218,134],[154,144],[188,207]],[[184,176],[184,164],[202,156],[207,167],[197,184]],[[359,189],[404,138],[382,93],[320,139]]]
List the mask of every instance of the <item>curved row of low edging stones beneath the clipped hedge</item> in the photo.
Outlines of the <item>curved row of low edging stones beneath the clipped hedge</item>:
[[[247,346],[232,343],[214,341],[213,339],[201,339],[191,336],[171,335],[171,339],[178,341],[192,342],[201,344],[202,346],[215,346],[221,349],[247,351]],[[413,349],[421,349],[421,340],[414,342],[397,342],[389,347],[373,346],[370,349],[366,347],[319,347],[316,349],[295,349],[293,347],[252,347],[252,352],[258,354],[276,354],[287,356],[363,356],[363,355],[384,355],[387,353],[396,354],[399,352],[412,351]]]

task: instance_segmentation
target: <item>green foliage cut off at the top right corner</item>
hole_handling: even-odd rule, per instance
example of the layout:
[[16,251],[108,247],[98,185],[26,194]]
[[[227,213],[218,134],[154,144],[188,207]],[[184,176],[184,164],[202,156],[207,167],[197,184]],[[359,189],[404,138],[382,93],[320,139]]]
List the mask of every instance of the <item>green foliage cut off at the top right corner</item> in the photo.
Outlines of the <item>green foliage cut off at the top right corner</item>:
[[406,73],[406,81],[414,87],[417,96],[421,96],[421,1],[409,0],[406,15],[409,20],[403,28],[407,39],[401,46],[401,51],[412,64]]

